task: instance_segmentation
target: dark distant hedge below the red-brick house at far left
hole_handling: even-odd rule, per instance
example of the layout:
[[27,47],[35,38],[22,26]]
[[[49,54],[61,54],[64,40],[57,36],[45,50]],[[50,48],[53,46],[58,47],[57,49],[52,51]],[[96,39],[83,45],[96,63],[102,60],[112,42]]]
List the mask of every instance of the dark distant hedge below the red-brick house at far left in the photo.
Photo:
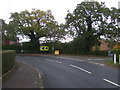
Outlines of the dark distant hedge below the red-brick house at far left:
[[20,53],[21,46],[20,44],[9,44],[9,45],[3,45],[2,49],[3,50],[15,50],[16,53]]

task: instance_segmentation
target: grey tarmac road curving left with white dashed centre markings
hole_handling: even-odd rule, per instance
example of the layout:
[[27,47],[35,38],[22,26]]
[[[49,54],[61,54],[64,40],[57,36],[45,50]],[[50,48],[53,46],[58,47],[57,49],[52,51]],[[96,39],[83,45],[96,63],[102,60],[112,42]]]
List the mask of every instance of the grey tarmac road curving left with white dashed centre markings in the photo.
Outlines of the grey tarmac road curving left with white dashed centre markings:
[[44,88],[120,87],[118,69],[90,61],[89,57],[16,56],[16,60],[31,64],[42,72]]

